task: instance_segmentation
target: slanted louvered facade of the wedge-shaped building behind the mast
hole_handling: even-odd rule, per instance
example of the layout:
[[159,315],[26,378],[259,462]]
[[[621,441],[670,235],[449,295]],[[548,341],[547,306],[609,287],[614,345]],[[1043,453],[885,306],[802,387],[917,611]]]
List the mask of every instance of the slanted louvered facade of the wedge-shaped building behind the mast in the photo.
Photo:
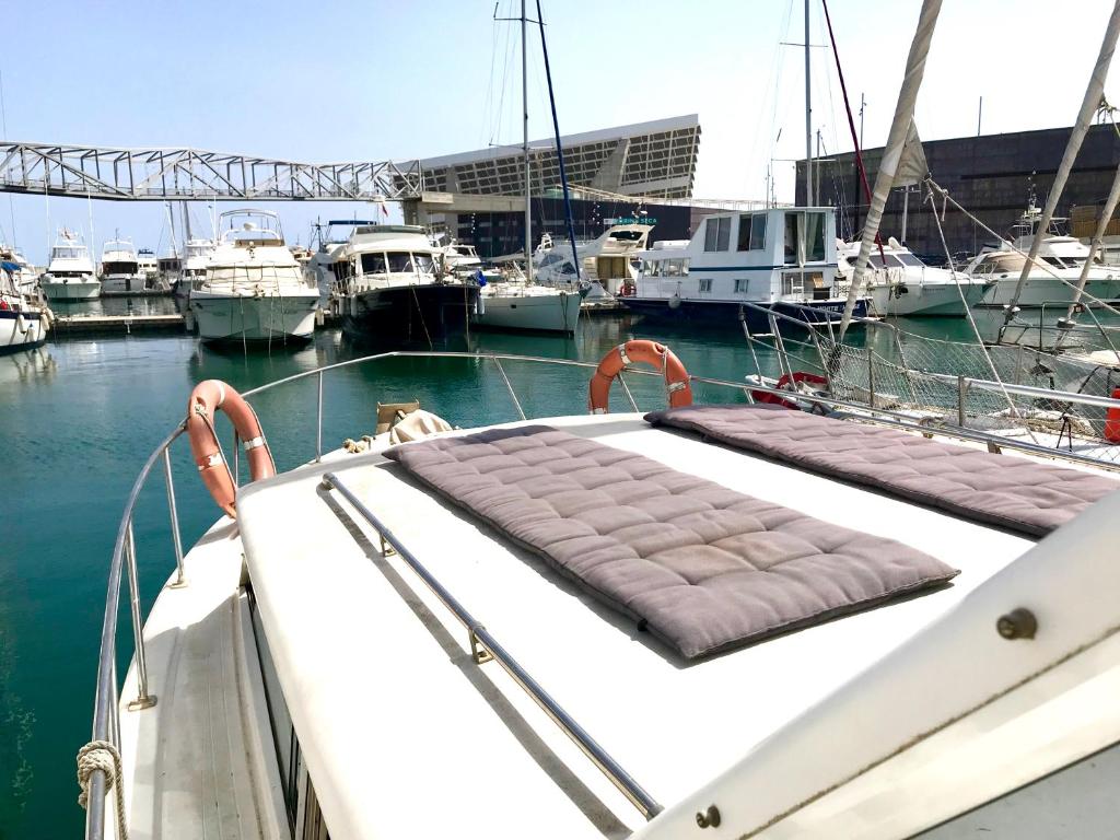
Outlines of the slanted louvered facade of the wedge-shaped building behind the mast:
[[[700,146],[697,114],[622,125],[560,139],[568,183],[622,195],[690,198]],[[421,160],[424,190],[464,195],[525,194],[524,160],[519,146]],[[556,144],[530,143],[532,193],[560,186]]]

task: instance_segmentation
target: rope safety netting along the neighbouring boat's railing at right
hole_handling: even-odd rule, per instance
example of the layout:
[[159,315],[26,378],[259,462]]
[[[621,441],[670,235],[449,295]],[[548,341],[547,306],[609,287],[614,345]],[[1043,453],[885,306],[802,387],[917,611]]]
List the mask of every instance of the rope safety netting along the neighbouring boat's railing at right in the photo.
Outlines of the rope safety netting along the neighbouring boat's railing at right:
[[[837,399],[904,411],[924,423],[999,431],[1120,461],[1120,446],[1104,438],[1107,409],[1070,396],[1111,396],[1120,388],[1117,365],[1024,346],[984,347],[874,327],[868,327],[865,347],[838,344],[820,330],[816,340]],[[1037,388],[1054,395],[981,388],[969,379]]]

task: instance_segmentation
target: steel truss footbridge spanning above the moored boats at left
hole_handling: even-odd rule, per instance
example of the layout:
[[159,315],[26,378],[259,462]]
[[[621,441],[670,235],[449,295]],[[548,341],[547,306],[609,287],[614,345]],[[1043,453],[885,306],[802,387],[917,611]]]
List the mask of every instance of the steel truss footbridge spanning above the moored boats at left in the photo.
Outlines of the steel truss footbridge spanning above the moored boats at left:
[[198,149],[0,141],[0,192],[111,200],[400,202],[420,198],[419,160],[297,164]]

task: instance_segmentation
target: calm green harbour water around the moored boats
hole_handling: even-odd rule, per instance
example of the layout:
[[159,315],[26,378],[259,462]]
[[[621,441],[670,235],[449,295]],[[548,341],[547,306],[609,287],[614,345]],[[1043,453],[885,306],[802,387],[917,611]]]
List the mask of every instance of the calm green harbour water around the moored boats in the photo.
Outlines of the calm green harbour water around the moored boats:
[[[129,302],[84,307],[72,309],[121,314]],[[132,309],[174,311],[174,301],[139,300]],[[968,336],[963,320],[905,328]],[[584,319],[573,338],[489,334],[446,348],[598,361],[632,337],[665,342],[697,375],[740,381],[753,370],[743,336],[734,329],[644,327],[625,315]],[[0,356],[7,485],[0,508],[0,838],[76,837],[82,830],[74,755],[90,737],[113,541],[138,470],[183,417],[192,386],[222,379],[248,390],[366,352],[328,330],[300,349],[250,356],[217,353],[187,336],[64,340]],[[586,410],[586,371],[516,363],[506,370],[531,417]],[[656,380],[631,381],[641,408],[663,404]],[[701,400],[728,399],[726,390],[698,390]],[[623,410],[618,391],[616,385],[613,396]],[[254,400],[281,469],[315,455],[315,393],[310,377]],[[501,377],[478,360],[398,358],[352,366],[329,374],[324,393],[328,449],[372,431],[377,401],[416,398],[460,426],[516,419]],[[174,468],[189,547],[217,512],[185,441],[177,445]],[[144,610],[174,566],[164,485],[158,473],[155,478],[136,517]],[[122,656],[130,653],[130,634],[125,617]]]

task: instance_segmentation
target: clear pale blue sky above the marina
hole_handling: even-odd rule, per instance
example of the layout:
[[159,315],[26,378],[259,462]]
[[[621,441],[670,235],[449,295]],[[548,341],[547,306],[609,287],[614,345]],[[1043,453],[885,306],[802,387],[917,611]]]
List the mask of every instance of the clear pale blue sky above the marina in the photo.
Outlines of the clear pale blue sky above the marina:
[[[530,2],[532,9],[533,3]],[[827,43],[812,0],[813,43]],[[924,138],[1068,125],[1100,46],[1107,0],[945,0],[917,106]],[[881,144],[917,0],[832,0],[849,92]],[[804,155],[801,0],[544,0],[563,133],[699,113],[696,195],[762,197],[771,158]],[[192,146],[292,160],[428,157],[520,139],[517,26],[493,0],[189,3],[12,2],[4,9],[8,139]],[[500,0],[498,16],[516,13]],[[535,32],[533,138],[551,124]],[[813,50],[814,128],[851,148],[832,55]],[[1120,78],[1113,73],[1111,78]],[[1107,93],[1110,88],[1107,87]],[[1120,92],[1113,92],[1120,101]],[[857,118],[858,119],[858,118]],[[774,142],[781,131],[781,140]],[[778,198],[792,164],[776,162]],[[234,205],[225,205],[232,208]],[[365,205],[282,205],[290,241]],[[161,204],[94,203],[96,249],[114,228],[167,246]],[[60,224],[88,231],[84,200],[0,197],[0,236],[41,262]],[[198,220],[204,216],[199,205]],[[15,223],[12,217],[15,217]]]

